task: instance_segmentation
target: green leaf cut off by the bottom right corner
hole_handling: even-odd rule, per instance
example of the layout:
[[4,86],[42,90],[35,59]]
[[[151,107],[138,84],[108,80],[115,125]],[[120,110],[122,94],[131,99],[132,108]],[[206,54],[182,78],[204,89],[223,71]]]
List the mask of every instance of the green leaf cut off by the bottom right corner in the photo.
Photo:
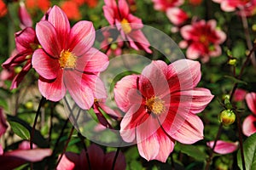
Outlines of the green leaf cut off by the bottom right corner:
[[[243,154],[247,170],[256,169],[256,133],[248,137],[243,143]],[[237,164],[242,169],[241,150],[237,152]]]

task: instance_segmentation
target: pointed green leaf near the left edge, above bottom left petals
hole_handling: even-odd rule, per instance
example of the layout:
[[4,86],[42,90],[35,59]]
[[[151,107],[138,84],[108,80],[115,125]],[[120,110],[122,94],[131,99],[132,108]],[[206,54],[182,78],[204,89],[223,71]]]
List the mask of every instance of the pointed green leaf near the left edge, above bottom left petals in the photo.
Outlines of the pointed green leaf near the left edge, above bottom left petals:
[[15,134],[20,136],[21,139],[26,139],[26,140],[30,139],[29,131],[26,129],[26,127],[23,127],[19,122],[10,121],[9,124],[12,127]]

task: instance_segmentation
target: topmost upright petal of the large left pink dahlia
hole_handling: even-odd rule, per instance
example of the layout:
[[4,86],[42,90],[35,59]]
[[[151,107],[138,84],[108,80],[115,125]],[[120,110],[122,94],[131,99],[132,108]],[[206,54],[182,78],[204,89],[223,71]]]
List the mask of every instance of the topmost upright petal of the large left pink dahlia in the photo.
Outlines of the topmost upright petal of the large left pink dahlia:
[[67,14],[65,14],[61,8],[54,6],[49,11],[48,21],[55,27],[55,31],[59,38],[62,48],[66,48],[67,37],[70,32],[70,25],[67,19]]

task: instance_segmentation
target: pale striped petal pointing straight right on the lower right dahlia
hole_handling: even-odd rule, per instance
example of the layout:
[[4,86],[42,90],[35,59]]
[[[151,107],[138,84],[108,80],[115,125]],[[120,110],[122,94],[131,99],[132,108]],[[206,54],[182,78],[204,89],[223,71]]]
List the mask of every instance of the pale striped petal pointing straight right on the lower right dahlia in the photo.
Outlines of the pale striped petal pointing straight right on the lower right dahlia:
[[184,90],[172,94],[170,105],[177,103],[177,107],[187,108],[189,113],[196,114],[203,111],[212,98],[213,95],[207,88],[194,88],[193,90]]

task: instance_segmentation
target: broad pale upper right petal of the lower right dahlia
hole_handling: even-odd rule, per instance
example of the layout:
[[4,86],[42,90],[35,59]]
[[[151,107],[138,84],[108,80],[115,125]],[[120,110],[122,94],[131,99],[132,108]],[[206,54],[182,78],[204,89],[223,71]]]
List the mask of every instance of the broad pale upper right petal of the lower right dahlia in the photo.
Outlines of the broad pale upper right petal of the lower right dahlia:
[[166,78],[171,94],[176,91],[195,88],[201,79],[201,65],[198,61],[179,59],[168,65]]

